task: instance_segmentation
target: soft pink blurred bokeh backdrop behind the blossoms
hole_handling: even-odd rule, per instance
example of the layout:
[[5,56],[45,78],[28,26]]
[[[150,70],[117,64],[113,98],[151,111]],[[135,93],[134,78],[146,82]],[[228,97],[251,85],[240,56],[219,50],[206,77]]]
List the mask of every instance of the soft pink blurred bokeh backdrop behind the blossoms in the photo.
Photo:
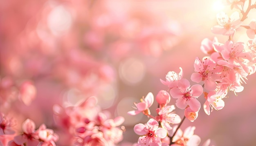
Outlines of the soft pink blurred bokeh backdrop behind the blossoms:
[[[123,143],[137,142],[133,126],[147,122],[139,114],[127,115],[133,102],[148,92],[168,90],[168,71],[184,71],[190,80],[204,38],[225,43],[213,35],[216,14],[230,15],[230,6],[218,0],[0,0],[0,79],[8,86],[0,94],[0,111],[20,121],[31,118],[37,127],[54,129],[53,105],[76,105],[90,96],[113,117],[123,116]],[[255,11],[249,18],[255,18]],[[250,19],[245,20],[249,22]],[[239,28],[235,41],[247,42],[246,29]],[[202,142],[216,146],[252,146],[256,135],[256,77],[248,77],[244,91],[229,93],[225,107],[198,119],[185,119],[181,128],[196,126]],[[190,80],[191,81],[191,80]],[[26,84],[25,84],[26,83]],[[28,86],[25,85],[28,84]],[[191,85],[194,84],[191,82]],[[25,86],[25,87],[23,87]],[[10,88],[9,88],[10,87]],[[19,97],[22,88],[33,100]],[[203,97],[199,98],[201,104]],[[11,103],[11,104],[10,104]],[[175,100],[171,100],[175,104]],[[150,109],[156,115],[154,104]],[[183,110],[176,108],[183,117]],[[19,128],[17,126],[17,128]],[[58,133],[58,131],[56,131]],[[61,133],[57,143],[64,146]]]

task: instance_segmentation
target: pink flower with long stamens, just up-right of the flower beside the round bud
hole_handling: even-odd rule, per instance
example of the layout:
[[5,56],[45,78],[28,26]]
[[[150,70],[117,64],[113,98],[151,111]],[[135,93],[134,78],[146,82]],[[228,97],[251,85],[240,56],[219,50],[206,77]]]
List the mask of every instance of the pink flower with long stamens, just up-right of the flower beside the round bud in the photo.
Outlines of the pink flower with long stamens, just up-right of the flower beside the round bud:
[[204,82],[205,89],[213,91],[216,89],[216,82],[211,77],[215,73],[216,63],[213,62],[210,57],[204,57],[201,61],[198,57],[195,58],[194,68],[195,72],[191,75],[191,80],[193,82],[199,83],[200,81]]

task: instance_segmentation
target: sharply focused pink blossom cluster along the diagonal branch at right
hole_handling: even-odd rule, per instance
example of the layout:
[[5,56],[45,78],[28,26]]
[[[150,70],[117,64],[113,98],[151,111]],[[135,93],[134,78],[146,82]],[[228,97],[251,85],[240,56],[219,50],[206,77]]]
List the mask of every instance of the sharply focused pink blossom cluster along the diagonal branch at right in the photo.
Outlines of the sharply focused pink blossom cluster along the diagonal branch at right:
[[[225,106],[223,98],[227,97],[228,92],[233,91],[236,93],[242,92],[244,86],[247,84],[248,76],[256,72],[255,66],[255,43],[256,43],[256,21],[252,19],[249,25],[242,25],[243,21],[247,18],[247,14],[251,9],[254,9],[255,4],[251,4],[249,0],[248,8],[245,10],[245,1],[233,1],[227,0],[227,4],[231,5],[231,9],[236,8],[243,15],[240,18],[239,11],[235,11],[230,17],[224,12],[217,14],[218,25],[211,28],[212,33],[218,35],[229,36],[228,40],[224,43],[218,41],[217,37],[213,40],[205,38],[201,43],[201,51],[207,56],[202,59],[195,58],[194,73],[191,74],[191,81],[198,83],[191,86],[189,80],[183,78],[183,69],[180,67],[180,73],[175,71],[169,71],[166,74],[166,80],[160,79],[162,84],[168,87],[171,97],[176,100],[175,105],[177,108],[184,109],[184,118],[186,117],[191,122],[195,121],[198,117],[198,112],[201,108],[201,103],[198,101],[198,97],[203,95],[205,102],[203,104],[203,110],[207,115],[215,110],[220,110]],[[234,41],[234,35],[236,29],[244,27],[247,29],[246,34],[249,38],[247,44],[244,42]],[[160,91],[161,92],[161,91]],[[159,93],[160,93],[159,92]],[[151,117],[148,120],[147,125],[137,124],[134,126],[134,131],[139,137],[136,146],[152,145],[152,146],[198,146],[200,144],[200,137],[193,135],[195,127],[189,127],[185,133],[190,133],[189,137],[179,134],[180,129],[175,129],[173,133],[169,133],[167,130],[173,129],[169,126],[172,124],[179,124],[179,121],[174,123],[173,121],[163,120],[163,113],[159,112],[165,109],[165,107],[172,107],[174,105],[167,106],[170,102],[168,96],[159,97],[157,100],[159,108],[157,108],[157,116],[150,115],[149,107],[152,105],[153,99],[146,99],[152,95],[147,95],[145,100],[141,100],[140,103],[135,103],[136,111],[130,111],[128,114],[135,115],[142,112],[144,115]],[[165,95],[168,92],[165,91]],[[170,97],[170,96],[169,96]],[[152,97],[151,97],[152,98]],[[159,102],[162,101],[162,102]],[[175,115],[178,117],[178,115]],[[159,118],[161,117],[161,118]],[[171,113],[164,117],[173,117]],[[154,120],[155,119],[155,120]],[[158,122],[157,122],[158,121]],[[160,125],[159,125],[160,123]],[[167,125],[167,126],[166,126]],[[164,131],[164,129],[166,131]],[[162,133],[160,133],[162,131]],[[172,135],[171,135],[172,134]],[[193,136],[192,136],[193,135]],[[168,141],[164,139],[167,137]],[[179,138],[177,138],[179,137]],[[193,138],[192,138],[193,137]],[[209,146],[210,141],[207,140],[204,146]]]

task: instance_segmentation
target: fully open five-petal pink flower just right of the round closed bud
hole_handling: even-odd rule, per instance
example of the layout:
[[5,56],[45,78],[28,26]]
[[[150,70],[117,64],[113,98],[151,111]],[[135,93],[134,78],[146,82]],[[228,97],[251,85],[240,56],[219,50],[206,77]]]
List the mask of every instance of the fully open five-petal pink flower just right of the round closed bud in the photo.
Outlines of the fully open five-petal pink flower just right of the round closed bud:
[[170,94],[173,98],[177,98],[176,106],[184,109],[187,105],[193,111],[199,111],[201,108],[200,102],[196,99],[203,93],[203,87],[199,84],[193,85],[190,88],[190,83],[186,79],[180,80],[178,87],[172,88]]

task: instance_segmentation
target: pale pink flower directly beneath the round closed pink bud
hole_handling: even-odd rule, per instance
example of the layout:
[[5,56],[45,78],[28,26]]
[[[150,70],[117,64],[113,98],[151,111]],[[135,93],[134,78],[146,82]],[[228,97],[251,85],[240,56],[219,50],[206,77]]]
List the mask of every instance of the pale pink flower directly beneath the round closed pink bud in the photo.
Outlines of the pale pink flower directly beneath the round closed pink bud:
[[156,109],[158,114],[158,116],[156,117],[157,120],[160,121],[161,126],[167,130],[172,129],[170,124],[179,124],[181,121],[180,116],[173,112],[174,109],[174,105],[164,106],[162,108]]

